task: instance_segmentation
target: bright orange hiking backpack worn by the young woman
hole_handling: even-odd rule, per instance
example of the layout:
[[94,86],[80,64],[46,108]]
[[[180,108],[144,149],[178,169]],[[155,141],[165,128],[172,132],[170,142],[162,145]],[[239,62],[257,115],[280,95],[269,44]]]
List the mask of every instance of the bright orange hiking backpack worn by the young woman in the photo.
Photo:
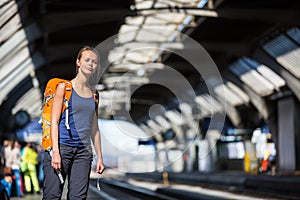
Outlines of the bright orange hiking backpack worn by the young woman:
[[[59,83],[65,83],[65,95],[64,95],[64,104],[61,110],[61,113],[66,111],[66,122],[65,125],[67,129],[70,129],[69,126],[69,109],[68,103],[71,98],[72,94],[72,83],[71,81],[60,79],[60,78],[52,78],[48,81],[45,92],[44,92],[44,100],[43,100],[43,111],[42,111],[42,146],[45,150],[51,150],[52,148],[52,141],[50,137],[50,120],[51,120],[51,110],[52,110],[52,102],[53,97],[56,93],[56,88]],[[95,110],[98,115],[98,104],[99,104],[99,95],[96,91],[94,94],[95,100]]]

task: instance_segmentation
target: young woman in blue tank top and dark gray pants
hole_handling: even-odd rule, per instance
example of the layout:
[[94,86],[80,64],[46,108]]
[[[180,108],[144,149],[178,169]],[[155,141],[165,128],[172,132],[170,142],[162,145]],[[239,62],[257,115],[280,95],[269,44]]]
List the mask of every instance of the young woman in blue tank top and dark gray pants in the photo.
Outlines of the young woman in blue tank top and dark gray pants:
[[76,77],[71,80],[72,95],[68,107],[70,129],[65,126],[66,111],[61,113],[64,103],[65,83],[57,86],[51,111],[50,135],[52,157],[44,155],[43,199],[61,199],[63,179],[68,177],[67,198],[70,200],[86,199],[92,162],[92,144],[97,154],[96,172],[102,173],[100,131],[95,111],[95,85],[99,80],[99,54],[92,47],[82,48],[76,59]]

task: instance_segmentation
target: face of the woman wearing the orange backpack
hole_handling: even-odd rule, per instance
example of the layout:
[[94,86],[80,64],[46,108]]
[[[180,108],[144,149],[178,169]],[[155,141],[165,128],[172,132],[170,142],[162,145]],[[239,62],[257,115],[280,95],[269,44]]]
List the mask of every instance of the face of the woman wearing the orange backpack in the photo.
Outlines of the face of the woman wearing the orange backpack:
[[77,66],[79,67],[79,71],[87,76],[90,76],[95,72],[97,65],[97,55],[89,50],[83,51],[81,58],[77,59]]

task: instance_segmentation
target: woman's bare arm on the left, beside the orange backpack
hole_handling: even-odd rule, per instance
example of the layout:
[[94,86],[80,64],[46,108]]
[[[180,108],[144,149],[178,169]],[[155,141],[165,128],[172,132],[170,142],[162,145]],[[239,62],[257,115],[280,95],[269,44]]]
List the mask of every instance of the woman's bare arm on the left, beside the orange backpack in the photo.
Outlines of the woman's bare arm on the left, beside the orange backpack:
[[59,154],[58,145],[58,126],[61,116],[61,111],[64,103],[65,94],[65,83],[58,84],[56,88],[56,93],[52,102],[51,110],[51,125],[50,125],[50,136],[52,141],[52,167],[55,170],[60,170],[61,168],[61,157]]

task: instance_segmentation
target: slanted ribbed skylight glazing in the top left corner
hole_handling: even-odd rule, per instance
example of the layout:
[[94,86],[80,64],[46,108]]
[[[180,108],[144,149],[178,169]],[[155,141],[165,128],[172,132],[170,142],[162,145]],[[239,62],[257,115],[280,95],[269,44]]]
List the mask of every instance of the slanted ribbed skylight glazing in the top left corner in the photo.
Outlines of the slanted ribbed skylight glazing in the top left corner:
[[[22,28],[17,2],[2,1],[0,4],[0,26],[2,27],[0,30],[1,105],[16,85],[34,72],[35,66],[27,46],[29,42],[25,30]],[[38,101],[29,104],[31,108],[36,107],[35,103]],[[36,116],[33,111],[29,111],[29,114]]]

